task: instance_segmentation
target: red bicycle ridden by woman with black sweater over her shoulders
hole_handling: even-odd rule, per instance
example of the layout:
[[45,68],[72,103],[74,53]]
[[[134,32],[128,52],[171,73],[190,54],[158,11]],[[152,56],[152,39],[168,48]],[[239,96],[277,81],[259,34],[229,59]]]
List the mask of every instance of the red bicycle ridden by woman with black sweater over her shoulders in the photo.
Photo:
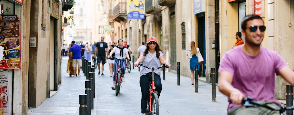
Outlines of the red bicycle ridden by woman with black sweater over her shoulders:
[[116,79],[115,79],[115,83],[116,83],[115,84],[115,96],[117,96],[119,93],[119,90],[121,88],[121,82],[122,82],[121,77],[123,77],[122,70],[121,70],[121,61],[125,61],[125,59],[127,59],[127,58],[117,59],[116,57],[113,57],[113,56],[111,58],[118,60],[118,68],[117,68]]

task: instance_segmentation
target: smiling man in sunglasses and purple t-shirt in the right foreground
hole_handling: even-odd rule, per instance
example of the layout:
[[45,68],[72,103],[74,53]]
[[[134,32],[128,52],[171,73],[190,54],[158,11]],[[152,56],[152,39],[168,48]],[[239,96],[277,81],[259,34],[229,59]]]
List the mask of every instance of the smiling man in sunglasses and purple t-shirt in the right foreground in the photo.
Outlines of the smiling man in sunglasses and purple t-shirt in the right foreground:
[[[245,44],[235,47],[223,55],[218,69],[219,91],[228,96],[228,114],[261,114],[270,111],[263,107],[243,107],[240,103],[250,96],[255,101],[274,99],[275,73],[294,86],[294,71],[275,51],[260,46],[264,37],[264,21],[260,16],[245,16],[241,23]],[[274,111],[279,112],[279,111]]]

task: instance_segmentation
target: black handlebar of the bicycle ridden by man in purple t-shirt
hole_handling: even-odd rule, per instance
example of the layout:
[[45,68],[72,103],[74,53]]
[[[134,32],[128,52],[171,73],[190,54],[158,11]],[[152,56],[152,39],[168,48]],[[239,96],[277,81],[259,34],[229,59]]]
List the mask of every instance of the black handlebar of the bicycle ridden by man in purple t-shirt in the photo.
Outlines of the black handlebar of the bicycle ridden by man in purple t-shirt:
[[274,102],[271,102],[270,104],[274,103],[274,104],[277,104],[277,106],[280,106],[280,107],[277,107],[277,108],[273,108],[271,106],[268,106],[268,103],[266,104],[261,104],[261,103],[258,103],[256,101],[253,101],[255,99],[251,98],[251,97],[245,97],[241,104],[245,107],[256,107],[256,106],[261,106],[261,107],[265,107],[269,110],[272,110],[272,111],[279,111],[281,115],[283,115],[285,113],[286,110],[293,110],[294,109],[294,106],[290,106],[290,107],[285,107],[283,105],[279,105],[277,103],[274,103]]

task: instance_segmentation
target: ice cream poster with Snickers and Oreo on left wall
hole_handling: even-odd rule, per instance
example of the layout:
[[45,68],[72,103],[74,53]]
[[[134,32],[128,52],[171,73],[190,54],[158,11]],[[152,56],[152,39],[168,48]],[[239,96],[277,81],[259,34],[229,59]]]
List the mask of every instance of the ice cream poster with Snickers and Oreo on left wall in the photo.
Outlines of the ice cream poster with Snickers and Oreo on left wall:
[[21,31],[19,18],[16,15],[1,15],[0,69],[21,68],[20,36]]

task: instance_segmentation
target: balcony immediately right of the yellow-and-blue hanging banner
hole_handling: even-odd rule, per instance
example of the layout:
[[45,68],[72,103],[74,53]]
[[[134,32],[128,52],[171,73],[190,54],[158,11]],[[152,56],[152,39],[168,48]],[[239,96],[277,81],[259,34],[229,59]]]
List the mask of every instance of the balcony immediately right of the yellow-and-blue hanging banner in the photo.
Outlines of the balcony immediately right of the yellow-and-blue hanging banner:
[[158,0],[146,0],[145,6],[146,14],[157,14],[161,12],[160,5],[158,5]]

